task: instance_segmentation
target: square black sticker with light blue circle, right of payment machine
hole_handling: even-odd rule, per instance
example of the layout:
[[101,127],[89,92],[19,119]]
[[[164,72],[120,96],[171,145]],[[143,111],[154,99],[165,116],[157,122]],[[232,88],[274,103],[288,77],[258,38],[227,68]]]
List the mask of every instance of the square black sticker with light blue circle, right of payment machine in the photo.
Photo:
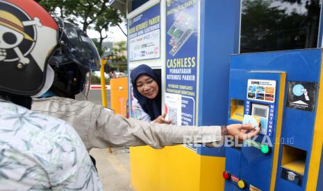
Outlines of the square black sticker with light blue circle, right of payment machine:
[[304,111],[315,108],[317,83],[288,82],[287,107]]

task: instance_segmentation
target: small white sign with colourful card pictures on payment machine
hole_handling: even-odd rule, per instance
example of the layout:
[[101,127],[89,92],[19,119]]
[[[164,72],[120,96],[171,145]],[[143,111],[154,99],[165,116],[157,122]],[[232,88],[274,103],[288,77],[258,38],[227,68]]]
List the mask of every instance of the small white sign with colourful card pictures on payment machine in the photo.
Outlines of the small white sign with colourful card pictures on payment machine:
[[276,81],[248,80],[247,98],[261,102],[275,102]]

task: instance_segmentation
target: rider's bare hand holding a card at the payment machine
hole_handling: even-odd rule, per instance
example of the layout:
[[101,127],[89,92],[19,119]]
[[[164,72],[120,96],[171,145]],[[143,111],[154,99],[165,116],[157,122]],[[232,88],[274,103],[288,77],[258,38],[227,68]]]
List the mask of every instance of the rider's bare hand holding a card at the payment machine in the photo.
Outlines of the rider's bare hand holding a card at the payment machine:
[[239,140],[245,140],[256,136],[260,132],[260,127],[254,129],[253,125],[233,124],[226,126],[230,136],[238,136]]

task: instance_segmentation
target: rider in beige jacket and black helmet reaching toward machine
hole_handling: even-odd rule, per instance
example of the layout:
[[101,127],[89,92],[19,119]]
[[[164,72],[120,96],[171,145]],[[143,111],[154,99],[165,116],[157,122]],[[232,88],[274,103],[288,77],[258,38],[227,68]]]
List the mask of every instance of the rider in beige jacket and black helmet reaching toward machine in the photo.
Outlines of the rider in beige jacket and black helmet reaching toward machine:
[[[254,130],[251,125],[180,127],[126,119],[99,104],[70,99],[80,93],[87,96],[89,83],[80,79],[90,79],[90,65],[99,64],[99,54],[91,39],[82,30],[62,19],[56,18],[56,21],[60,27],[60,44],[49,59],[49,64],[56,71],[51,87],[52,97],[33,99],[32,109],[69,122],[88,150],[93,147],[139,145],[162,148],[165,145],[182,144],[184,140],[189,140],[189,143],[209,143],[221,140],[226,132],[240,139],[258,134],[259,130]],[[78,75],[77,69],[83,72]],[[251,132],[245,133],[241,129]],[[197,137],[201,139],[197,140]]]

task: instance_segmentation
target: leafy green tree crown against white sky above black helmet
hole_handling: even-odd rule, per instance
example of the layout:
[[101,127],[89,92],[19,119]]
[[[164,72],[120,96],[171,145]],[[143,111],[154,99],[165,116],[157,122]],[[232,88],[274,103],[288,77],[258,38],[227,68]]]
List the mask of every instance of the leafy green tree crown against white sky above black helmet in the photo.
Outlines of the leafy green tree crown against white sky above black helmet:
[[[97,30],[101,38],[97,43],[98,49],[103,49],[103,39],[108,37],[104,32],[109,26],[119,26],[124,13],[112,8],[108,0],[36,0],[51,15],[62,17],[77,24],[87,33],[88,29]],[[124,31],[122,31],[124,33]]]

